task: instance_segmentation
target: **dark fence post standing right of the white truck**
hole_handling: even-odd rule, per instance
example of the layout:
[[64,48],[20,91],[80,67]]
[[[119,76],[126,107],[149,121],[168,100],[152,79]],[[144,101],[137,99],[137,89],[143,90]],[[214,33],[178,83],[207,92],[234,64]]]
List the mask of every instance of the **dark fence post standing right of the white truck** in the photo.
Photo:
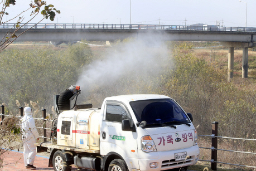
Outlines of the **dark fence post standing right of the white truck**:
[[[218,122],[212,122],[211,123],[211,134],[214,136],[218,136]],[[212,137],[211,139],[211,146],[213,148],[218,148],[218,138],[217,137]],[[211,169],[212,170],[217,170],[217,150],[212,150],[211,151]],[[214,162],[215,161],[215,162]]]

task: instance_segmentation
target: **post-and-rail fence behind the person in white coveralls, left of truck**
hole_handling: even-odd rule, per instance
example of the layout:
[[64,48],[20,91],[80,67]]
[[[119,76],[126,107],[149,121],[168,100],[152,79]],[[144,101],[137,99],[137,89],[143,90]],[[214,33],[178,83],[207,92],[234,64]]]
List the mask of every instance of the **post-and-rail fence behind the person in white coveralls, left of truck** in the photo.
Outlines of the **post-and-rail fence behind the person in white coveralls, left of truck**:
[[[2,121],[4,119],[4,116],[11,116],[11,115],[5,115],[4,114],[4,105],[0,106],[1,107],[1,113],[0,113],[0,118],[1,118],[1,125],[2,125]],[[20,107],[19,108],[19,114],[20,116],[15,116],[17,118],[22,118],[23,117],[23,108]],[[36,127],[36,128],[40,128],[40,129],[44,129],[43,130],[43,135],[40,136],[40,138],[43,138],[44,139],[44,142],[46,142],[47,140],[46,139],[50,139],[47,137],[47,130],[51,130],[50,128],[46,128],[46,121],[52,121],[50,119],[46,119],[46,109],[42,109],[42,118],[34,118],[36,120],[42,120],[42,127]]]

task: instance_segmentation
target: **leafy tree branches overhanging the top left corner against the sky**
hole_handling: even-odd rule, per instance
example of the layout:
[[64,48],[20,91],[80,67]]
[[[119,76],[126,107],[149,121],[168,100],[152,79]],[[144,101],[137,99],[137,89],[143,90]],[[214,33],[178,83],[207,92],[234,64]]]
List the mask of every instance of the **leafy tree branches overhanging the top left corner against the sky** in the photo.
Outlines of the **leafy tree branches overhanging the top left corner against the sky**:
[[[49,18],[51,21],[54,21],[54,18],[56,15],[55,12],[60,13],[59,10],[54,8],[54,5],[52,5],[52,4],[47,5],[46,2],[42,1],[42,0],[34,0],[33,3],[31,2],[30,4],[28,4],[30,7],[25,9],[25,11],[16,14],[15,17],[9,19],[6,22],[2,22],[3,17],[9,14],[8,12],[6,12],[6,9],[10,7],[10,4],[12,4],[14,6],[16,4],[16,0],[2,0],[1,4],[2,4],[2,11],[0,12],[0,26],[6,22],[12,21],[12,20],[16,20],[16,23],[15,23],[15,25],[12,26],[12,28],[9,31],[7,31],[6,35],[0,41],[0,52],[2,52],[7,46],[9,46],[13,41],[15,41],[16,38],[21,36],[26,31],[30,30],[31,28],[35,27],[38,23],[40,23],[45,18],[46,19]],[[25,13],[26,11],[28,11],[29,9],[32,9],[32,13],[30,15],[31,18],[28,19],[27,22],[22,23],[24,20],[24,17],[21,15],[23,13]],[[21,28],[24,28],[24,26],[27,23],[32,21],[32,19],[35,18],[40,13],[42,14],[42,19],[39,22],[37,22],[34,26],[32,26],[30,28],[26,28],[24,31],[22,30],[22,32],[18,33],[18,31],[21,31]]]

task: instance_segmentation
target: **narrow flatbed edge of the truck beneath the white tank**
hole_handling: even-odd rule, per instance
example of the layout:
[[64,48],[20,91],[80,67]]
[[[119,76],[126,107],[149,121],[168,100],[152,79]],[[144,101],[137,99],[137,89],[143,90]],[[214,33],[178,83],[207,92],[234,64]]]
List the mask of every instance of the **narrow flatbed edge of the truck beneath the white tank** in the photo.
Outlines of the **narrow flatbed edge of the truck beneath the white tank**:
[[80,148],[75,148],[73,146],[62,146],[62,145],[57,145],[57,144],[51,144],[51,142],[35,143],[34,145],[44,146],[47,148],[61,149],[61,150],[70,150],[70,151],[74,151],[74,152],[100,153],[99,150],[80,149]]

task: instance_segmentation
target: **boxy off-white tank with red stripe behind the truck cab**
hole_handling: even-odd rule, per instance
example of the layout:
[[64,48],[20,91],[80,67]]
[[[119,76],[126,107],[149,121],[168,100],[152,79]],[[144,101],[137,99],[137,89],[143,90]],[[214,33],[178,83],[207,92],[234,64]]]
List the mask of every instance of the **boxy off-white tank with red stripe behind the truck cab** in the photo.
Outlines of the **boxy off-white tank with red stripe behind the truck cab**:
[[57,123],[57,145],[99,150],[100,109],[64,111]]

